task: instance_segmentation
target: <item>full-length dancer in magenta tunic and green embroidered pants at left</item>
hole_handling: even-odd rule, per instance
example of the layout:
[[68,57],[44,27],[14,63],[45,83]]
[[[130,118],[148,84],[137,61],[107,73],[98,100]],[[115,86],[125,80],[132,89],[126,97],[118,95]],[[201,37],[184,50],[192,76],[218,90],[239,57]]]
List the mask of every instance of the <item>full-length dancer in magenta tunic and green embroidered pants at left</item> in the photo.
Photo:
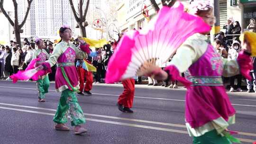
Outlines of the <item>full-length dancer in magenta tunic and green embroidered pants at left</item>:
[[90,54],[91,52],[89,45],[86,45],[82,40],[80,40],[81,50],[70,42],[72,37],[70,27],[63,26],[60,28],[59,32],[61,41],[55,46],[49,60],[38,66],[37,70],[51,72],[51,67],[57,63],[55,88],[56,91],[62,92],[62,94],[53,119],[56,123],[55,129],[63,131],[69,130],[69,127],[64,125],[64,123],[67,122],[67,114],[69,114],[71,126],[74,126],[74,133],[82,134],[86,133],[87,129],[81,126],[81,124],[85,123],[85,117],[74,93],[79,91],[79,79],[74,61],[76,57],[83,59],[86,53]]

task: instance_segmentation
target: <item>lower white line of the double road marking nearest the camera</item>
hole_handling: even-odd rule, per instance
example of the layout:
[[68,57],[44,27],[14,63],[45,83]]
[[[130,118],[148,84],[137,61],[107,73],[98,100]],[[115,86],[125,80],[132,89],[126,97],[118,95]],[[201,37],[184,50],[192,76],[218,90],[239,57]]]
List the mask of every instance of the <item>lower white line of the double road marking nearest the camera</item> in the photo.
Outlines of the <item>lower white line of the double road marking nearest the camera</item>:
[[[34,110],[26,110],[26,109],[18,109],[18,108],[0,107],[0,109],[15,110],[15,111],[21,111],[21,112],[28,112],[28,113],[48,115],[48,116],[54,116],[55,115],[53,113],[46,113],[46,112],[40,112],[40,111],[34,111]],[[140,128],[154,129],[154,130],[160,130],[160,131],[166,131],[166,132],[188,134],[187,131],[177,130],[177,129],[170,129],[170,128],[162,128],[162,127],[155,127],[155,126],[144,126],[144,125],[129,124],[129,123],[122,123],[122,122],[115,122],[115,121],[108,121],[108,120],[101,120],[101,119],[94,119],[94,118],[86,118],[86,120],[94,121],[94,122],[107,123],[107,124],[121,125],[121,126],[140,127]],[[251,139],[243,139],[243,138],[238,138],[238,139],[241,142],[248,142],[248,143],[253,143],[254,142],[254,140],[251,140]]]

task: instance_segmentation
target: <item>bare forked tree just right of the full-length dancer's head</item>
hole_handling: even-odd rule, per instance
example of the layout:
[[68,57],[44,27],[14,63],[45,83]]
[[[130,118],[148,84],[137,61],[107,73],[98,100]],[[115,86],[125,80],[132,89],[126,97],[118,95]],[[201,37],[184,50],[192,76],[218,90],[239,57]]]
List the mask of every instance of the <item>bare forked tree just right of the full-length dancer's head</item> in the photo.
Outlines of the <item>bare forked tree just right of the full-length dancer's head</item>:
[[88,12],[90,0],[86,1],[86,8],[85,8],[84,12],[82,10],[82,6],[83,6],[84,0],[79,0],[79,4],[78,4],[79,13],[77,13],[75,11],[73,0],[69,0],[69,2],[70,2],[70,5],[71,5],[71,8],[72,8],[75,20],[76,20],[76,22],[79,25],[81,35],[82,35],[82,37],[86,37],[86,29],[85,29],[85,27],[88,26],[88,23],[85,22],[85,19],[86,19],[86,15],[87,15],[87,12]]

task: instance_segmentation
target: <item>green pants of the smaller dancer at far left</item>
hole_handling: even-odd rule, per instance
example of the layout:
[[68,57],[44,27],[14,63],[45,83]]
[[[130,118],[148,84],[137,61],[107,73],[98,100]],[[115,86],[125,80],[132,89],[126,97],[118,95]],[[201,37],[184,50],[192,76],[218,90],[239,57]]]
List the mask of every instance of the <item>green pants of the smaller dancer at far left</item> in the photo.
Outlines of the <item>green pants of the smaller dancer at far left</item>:
[[37,96],[39,99],[45,99],[48,92],[50,81],[48,74],[37,80]]

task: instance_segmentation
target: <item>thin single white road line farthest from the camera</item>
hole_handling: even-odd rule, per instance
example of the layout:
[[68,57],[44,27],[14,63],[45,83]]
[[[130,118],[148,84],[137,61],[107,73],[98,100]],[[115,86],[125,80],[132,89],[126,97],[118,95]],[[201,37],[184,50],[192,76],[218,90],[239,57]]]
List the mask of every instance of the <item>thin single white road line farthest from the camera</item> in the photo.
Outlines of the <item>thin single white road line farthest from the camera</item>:
[[[0,88],[12,88],[12,89],[27,89],[27,90],[37,90],[37,89],[32,89],[32,88],[20,88],[20,87],[6,87],[6,86],[0,86]],[[55,90],[49,90],[49,91],[55,91]],[[119,95],[114,95],[114,94],[105,94],[105,93],[93,93],[96,95],[106,95],[106,96],[119,96]],[[158,99],[158,100],[170,100],[170,101],[185,101],[183,99],[165,99],[165,98],[151,98],[151,97],[138,97],[135,96],[135,98],[141,98],[141,99]],[[256,107],[256,105],[243,105],[243,104],[232,104],[233,106],[245,106],[245,107]]]

